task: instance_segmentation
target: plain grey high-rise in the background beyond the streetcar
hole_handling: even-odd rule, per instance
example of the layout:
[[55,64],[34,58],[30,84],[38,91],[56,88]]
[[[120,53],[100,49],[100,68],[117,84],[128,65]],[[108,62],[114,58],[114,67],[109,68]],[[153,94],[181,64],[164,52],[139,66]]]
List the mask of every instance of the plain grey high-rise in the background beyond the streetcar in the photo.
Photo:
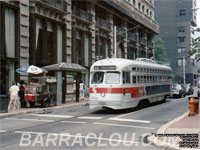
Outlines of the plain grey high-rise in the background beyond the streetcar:
[[185,72],[186,83],[196,84],[199,73],[195,61],[188,57],[194,27],[197,26],[197,14],[193,9],[196,0],[155,0],[155,7],[155,19],[160,26],[159,36],[165,42],[174,77],[184,77]]

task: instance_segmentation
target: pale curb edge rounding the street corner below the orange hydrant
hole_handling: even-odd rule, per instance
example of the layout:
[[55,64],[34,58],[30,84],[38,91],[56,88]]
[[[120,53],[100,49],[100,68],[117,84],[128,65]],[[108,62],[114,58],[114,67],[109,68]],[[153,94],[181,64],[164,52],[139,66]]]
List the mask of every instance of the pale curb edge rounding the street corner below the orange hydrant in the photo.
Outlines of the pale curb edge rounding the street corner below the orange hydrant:
[[[175,122],[181,120],[182,118],[184,118],[185,116],[187,116],[188,113],[189,112],[185,112],[183,115],[181,115],[181,116],[175,118],[174,120],[168,122],[167,124],[163,125],[162,127],[160,127],[158,129],[158,131],[156,133],[157,134],[164,134],[168,127],[170,127],[173,123],[175,123]],[[180,150],[181,149],[178,145],[171,145],[170,143],[167,143],[165,141],[161,141],[157,137],[155,137],[154,135],[149,136],[147,138],[147,140],[149,142],[153,143],[154,145],[159,146],[159,147],[167,147],[167,148],[175,149],[175,150]]]

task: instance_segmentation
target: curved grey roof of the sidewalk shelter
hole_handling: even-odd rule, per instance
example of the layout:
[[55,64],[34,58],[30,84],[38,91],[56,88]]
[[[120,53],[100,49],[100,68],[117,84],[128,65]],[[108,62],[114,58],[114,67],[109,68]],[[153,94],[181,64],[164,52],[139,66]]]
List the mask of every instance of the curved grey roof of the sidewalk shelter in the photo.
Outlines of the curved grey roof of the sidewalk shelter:
[[74,71],[74,72],[87,72],[83,66],[75,63],[62,62],[58,64],[48,65],[43,67],[48,71]]

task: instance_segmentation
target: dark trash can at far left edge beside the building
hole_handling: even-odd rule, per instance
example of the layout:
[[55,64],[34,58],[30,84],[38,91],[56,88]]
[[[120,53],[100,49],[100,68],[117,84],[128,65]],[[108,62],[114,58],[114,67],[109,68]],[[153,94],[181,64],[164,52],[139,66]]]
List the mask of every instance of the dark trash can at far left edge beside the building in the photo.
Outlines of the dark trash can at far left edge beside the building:
[[0,95],[0,113],[8,112],[9,101],[10,101],[9,95]]

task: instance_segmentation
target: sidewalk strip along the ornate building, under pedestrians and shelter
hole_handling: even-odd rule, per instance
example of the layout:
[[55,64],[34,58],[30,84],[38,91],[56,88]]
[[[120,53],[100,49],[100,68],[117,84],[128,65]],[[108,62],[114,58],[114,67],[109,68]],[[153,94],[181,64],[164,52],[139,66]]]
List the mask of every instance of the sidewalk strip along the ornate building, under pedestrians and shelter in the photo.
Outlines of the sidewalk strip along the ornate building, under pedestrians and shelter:
[[65,104],[62,104],[60,106],[52,106],[52,107],[47,107],[47,108],[20,108],[20,109],[15,109],[15,110],[8,110],[8,113],[0,113],[0,118],[5,118],[9,116],[14,116],[14,115],[20,115],[20,114],[26,114],[26,113],[38,113],[38,112],[43,112],[43,111],[48,111],[52,109],[59,109],[59,108],[68,108],[68,107],[75,107],[75,106],[83,106],[89,103],[89,98],[86,97],[84,100],[79,100],[79,102],[71,101],[71,100],[66,100]]

